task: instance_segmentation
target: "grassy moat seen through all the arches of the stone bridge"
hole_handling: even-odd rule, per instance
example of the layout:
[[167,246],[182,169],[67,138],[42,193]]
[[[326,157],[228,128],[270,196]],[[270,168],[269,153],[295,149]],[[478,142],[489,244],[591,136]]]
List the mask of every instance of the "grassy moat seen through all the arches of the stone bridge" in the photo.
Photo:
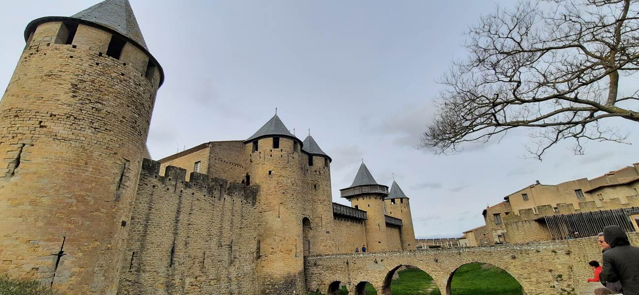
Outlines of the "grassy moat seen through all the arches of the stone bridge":
[[[418,268],[407,268],[399,271],[399,278],[390,285],[393,295],[440,295],[433,278]],[[453,295],[521,295],[520,284],[503,269],[490,264],[471,263],[461,266],[455,272],[450,285]],[[309,295],[322,293],[311,292]],[[345,286],[340,295],[354,294]],[[366,285],[366,294],[375,295],[378,292],[373,285]]]

